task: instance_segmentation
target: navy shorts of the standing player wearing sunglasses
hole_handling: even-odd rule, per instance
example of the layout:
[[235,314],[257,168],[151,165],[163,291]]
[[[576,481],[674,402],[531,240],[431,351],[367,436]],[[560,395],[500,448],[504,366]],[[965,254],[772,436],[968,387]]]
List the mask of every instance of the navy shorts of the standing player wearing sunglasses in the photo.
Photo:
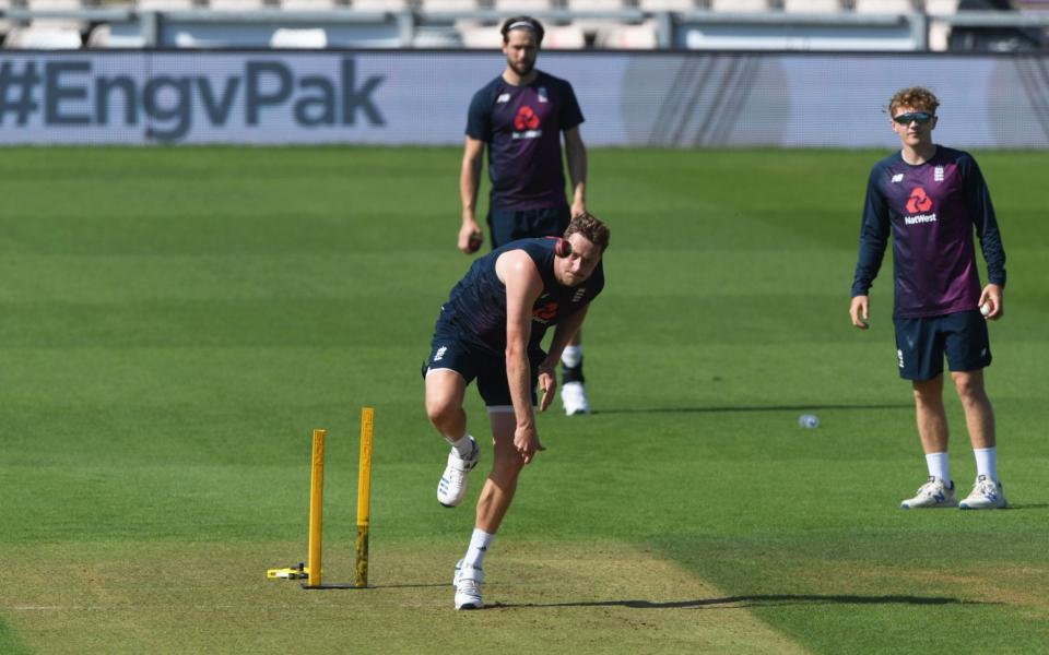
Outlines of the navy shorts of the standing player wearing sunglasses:
[[943,372],[943,356],[952,371],[976,371],[991,365],[987,319],[977,310],[941,317],[893,319],[899,377],[932,380]]

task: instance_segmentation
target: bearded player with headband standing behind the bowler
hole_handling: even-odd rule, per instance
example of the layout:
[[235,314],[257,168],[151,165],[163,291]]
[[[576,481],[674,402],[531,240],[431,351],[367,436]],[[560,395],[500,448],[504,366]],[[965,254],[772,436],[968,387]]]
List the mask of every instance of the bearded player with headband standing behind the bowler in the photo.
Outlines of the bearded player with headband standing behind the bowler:
[[[473,95],[467,119],[459,174],[462,224],[459,249],[472,253],[484,240],[478,224],[478,190],[484,150],[488,150],[487,225],[492,248],[530,237],[561,236],[568,221],[587,211],[587,148],[579,134],[582,111],[565,80],[535,68],[543,43],[542,23],[514,16],[503,23],[506,68]],[[571,205],[565,196],[564,134]],[[582,374],[581,335],[562,356],[561,390],[565,413],[588,414]]]

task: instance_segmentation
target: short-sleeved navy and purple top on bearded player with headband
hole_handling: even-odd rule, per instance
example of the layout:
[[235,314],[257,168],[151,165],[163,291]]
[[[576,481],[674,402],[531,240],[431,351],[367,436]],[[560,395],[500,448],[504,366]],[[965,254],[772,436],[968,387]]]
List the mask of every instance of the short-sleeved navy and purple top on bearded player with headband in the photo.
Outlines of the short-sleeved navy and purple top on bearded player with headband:
[[499,75],[474,94],[467,135],[488,146],[490,207],[567,205],[561,132],[584,121],[571,84],[542,71],[514,86]]

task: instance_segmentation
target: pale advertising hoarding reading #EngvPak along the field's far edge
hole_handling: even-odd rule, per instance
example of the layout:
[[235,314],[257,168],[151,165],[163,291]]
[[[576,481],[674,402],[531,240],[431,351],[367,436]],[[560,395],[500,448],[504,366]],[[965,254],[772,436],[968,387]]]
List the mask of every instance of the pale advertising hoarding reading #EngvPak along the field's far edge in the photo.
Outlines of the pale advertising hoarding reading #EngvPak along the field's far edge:
[[[4,52],[0,144],[461,143],[499,52]],[[938,139],[1049,146],[1049,59],[928,55],[544,52],[586,142],[892,146],[898,88],[941,98]]]

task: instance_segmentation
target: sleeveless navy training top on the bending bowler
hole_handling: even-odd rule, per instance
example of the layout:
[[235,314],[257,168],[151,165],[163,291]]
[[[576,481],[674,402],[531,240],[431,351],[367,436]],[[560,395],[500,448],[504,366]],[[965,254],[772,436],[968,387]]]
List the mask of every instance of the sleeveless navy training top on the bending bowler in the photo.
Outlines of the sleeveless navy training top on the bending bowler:
[[543,293],[532,306],[532,333],[529,348],[538,346],[546,329],[586,307],[604,288],[604,265],[598,262],[593,274],[581,285],[568,287],[554,277],[554,246],[557,239],[520,239],[475,260],[451,289],[440,308],[440,322],[457,327],[470,341],[502,355],[506,352],[506,285],[495,273],[495,261],[508,250],[528,253],[540,276]]

